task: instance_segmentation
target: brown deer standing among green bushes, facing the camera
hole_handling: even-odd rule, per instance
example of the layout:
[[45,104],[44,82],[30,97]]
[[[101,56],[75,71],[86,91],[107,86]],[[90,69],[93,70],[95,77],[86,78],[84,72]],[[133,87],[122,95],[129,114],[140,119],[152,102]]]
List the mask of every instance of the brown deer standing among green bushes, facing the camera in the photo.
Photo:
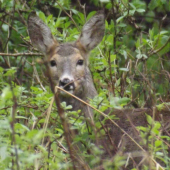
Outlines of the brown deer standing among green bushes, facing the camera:
[[[97,95],[89,69],[88,58],[90,51],[104,37],[105,15],[103,12],[97,12],[85,23],[79,38],[75,42],[60,44],[54,39],[50,28],[34,12],[28,18],[28,32],[33,46],[45,56],[48,72],[54,86],[58,85],[85,102]],[[54,86],[52,86],[52,91],[54,91]],[[82,103],[62,90],[58,93],[60,102],[64,101],[67,105],[72,105],[72,111],[81,110],[86,118],[93,119],[93,109],[89,105]],[[103,137],[103,146],[105,145],[106,150],[109,150],[106,154],[111,153],[114,156],[115,152],[140,152],[141,148],[131,141],[131,136],[136,140],[136,143],[141,140],[136,126],[147,126],[145,113],[153,115],[153,111],[148,108],[115,109],[113,111],[113,114],[119,119],[115,124],[108,120],[104,125],[105,129],[110,129],[107,131],[106,136]],[[160,116],[161,113],[163,117]],[[159,112],[158,110],[155,111],[155,114],[155,120],[161,120],[164,124],[167,123],[170,117],[167,112]],[[108,147],[110,141],[112,145]],[[116,149],[114,149],[115,147]],[[143,151],[145,150],[143,149]],[[143,156],[139,154],[136,157],[140,157],[138,163],[143,162]]]

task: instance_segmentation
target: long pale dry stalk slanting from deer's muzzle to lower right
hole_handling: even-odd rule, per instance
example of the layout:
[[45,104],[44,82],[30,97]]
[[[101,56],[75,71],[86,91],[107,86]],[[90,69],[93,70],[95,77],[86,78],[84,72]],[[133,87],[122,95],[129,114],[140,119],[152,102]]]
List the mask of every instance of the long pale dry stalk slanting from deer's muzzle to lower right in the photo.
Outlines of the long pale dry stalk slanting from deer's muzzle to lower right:
[[[108,115],[106,115],[105,113],[101,112],[100,110],[96,109],[95,107],[91,106],[90,104],[88,104],[87,102],[81,100],[80,98],[76,97],[75,95],[69,93],[68,91],[60,88],[59,86],[55,86],[57,89],[69,94],[70,96],[74,97],[75,99],[79,100],[80,102],[84,103],[85,105],[91,107],[92,109],[96,110],[97,112],[99,112],[101,115],[103,115],[104,117],[107,117],[115,126],[117,126],[125,135],[127,135],[142,151],[146,152],[126,131],[124,131],[114,120],[112,120]],[[158,164],[153,158],[151,158],[152,161],[156,164],[159,165],[159,167],[164,170],[164,168]]]

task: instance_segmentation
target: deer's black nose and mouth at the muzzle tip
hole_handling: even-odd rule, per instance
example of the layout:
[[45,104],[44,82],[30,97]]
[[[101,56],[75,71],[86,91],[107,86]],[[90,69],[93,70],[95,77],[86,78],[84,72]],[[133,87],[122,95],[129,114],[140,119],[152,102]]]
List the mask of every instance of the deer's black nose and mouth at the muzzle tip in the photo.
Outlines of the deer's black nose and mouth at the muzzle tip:
[[64,78],[63,80],[60,80],[59,86],[63,87],[64,90],[67,90],[67,91],[75,89],[74,82],[69,80],[68,78]]

